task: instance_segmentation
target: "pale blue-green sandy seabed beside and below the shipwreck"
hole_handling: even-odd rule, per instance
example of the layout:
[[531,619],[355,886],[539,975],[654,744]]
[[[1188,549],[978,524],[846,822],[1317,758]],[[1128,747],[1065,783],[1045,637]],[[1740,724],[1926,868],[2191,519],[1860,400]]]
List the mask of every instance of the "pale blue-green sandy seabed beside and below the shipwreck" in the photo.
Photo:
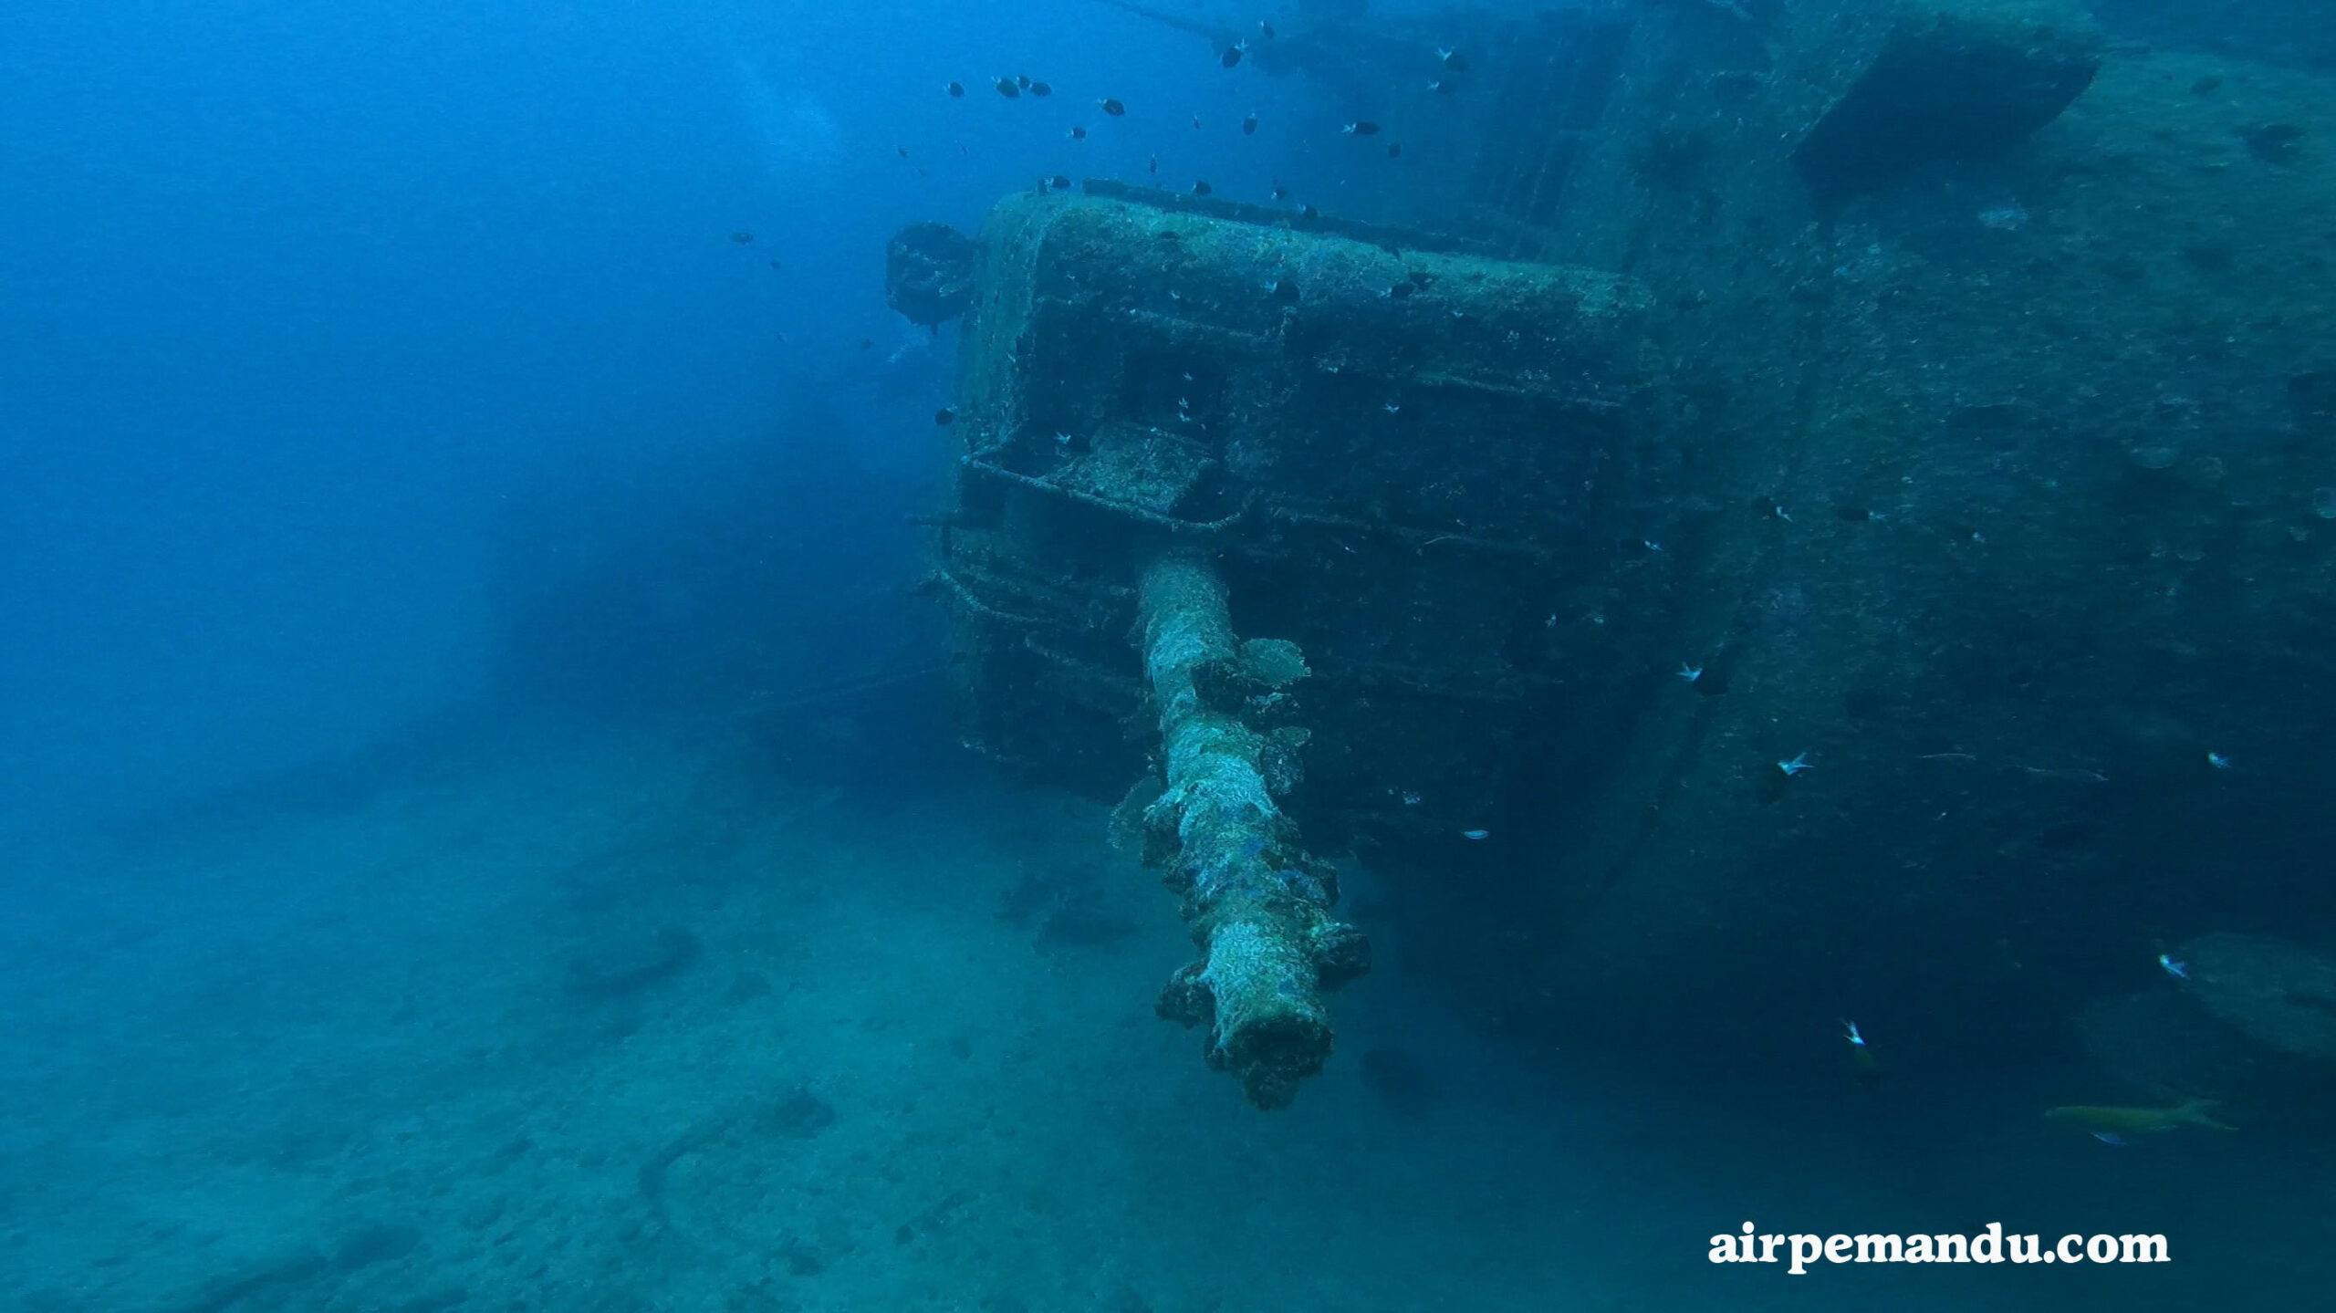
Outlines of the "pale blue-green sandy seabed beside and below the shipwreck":
[[[2070,1306],[1722,1278],[1747,1199],[1911,1206],[1841,1145],[1486,1056],[1399,963],[1259,1114],[1152,1016],[1184,932],[1103,834],[972,766],[897,794],[533,731],[336,808],[23,843],[0,1306]],[[1374,1086],[1374,1044],[1441,1084]]]

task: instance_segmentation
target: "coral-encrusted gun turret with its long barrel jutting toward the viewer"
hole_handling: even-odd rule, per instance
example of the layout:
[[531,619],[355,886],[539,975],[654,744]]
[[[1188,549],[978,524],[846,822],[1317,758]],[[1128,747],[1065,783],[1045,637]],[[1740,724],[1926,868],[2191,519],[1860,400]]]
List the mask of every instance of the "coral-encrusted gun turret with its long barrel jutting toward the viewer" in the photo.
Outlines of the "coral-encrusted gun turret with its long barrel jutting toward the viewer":
[[1626,666],[1647,297],[1112,182],[997,203],[972,266],[927,579],[962,738],[1126,787],[1201,951],[1159,1012],[1285,1105],[1369,970],[1327,855],[1479,841]]

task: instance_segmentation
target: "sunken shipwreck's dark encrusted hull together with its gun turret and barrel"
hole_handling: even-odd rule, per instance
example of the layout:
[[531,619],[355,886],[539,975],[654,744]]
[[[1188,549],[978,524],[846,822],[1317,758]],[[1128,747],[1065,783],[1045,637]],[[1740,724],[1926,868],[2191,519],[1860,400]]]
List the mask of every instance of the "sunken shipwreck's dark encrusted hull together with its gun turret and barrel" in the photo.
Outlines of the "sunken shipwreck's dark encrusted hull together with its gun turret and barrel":
[[1474,182],[1406,194],[1462,236],[1089,182],[932,243],[962,736],[1128,790],[1201,949],[1161,1012],[1257,1103],[1392,916],[1472,1016],[1710,1051],[1843,979],[2002,1042],[2053,944],[2292,913],[2324,84],[2208,98],[2058,0],[1766,9],[1476,47],[1551,58],[1444,105]]

